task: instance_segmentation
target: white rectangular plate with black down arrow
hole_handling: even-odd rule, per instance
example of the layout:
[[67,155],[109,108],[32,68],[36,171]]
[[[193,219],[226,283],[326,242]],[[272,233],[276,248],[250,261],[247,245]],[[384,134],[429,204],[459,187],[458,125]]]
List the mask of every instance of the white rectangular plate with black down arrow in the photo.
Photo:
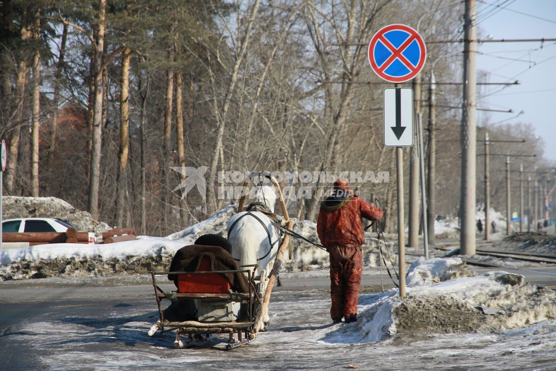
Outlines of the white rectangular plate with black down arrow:
[[413,146],[413,89],[384,89],[384,145]]

